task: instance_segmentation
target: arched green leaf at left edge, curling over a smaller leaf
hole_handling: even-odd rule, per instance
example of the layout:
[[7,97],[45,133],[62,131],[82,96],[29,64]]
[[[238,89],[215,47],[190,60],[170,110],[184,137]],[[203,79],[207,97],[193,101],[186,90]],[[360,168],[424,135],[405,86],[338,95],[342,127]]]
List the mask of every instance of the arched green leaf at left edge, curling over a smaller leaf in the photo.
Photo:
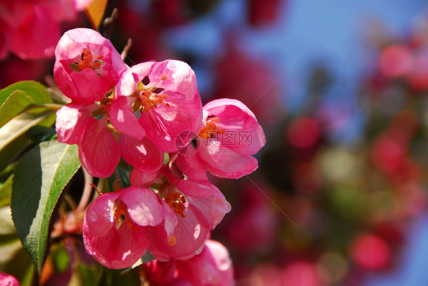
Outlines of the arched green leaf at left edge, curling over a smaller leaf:
[[7,97],[14,91],[23,92],[34,104],[51,103],[49,94],[43,85],[34,81],[23,81],[10,85],[0,91],[0,105],[3,105]]

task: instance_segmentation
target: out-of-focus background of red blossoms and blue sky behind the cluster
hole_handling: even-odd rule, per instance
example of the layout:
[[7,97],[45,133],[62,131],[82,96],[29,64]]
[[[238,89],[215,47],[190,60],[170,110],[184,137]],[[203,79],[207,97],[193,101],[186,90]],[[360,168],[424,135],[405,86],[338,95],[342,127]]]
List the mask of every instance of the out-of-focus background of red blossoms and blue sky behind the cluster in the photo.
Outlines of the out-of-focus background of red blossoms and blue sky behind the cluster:
[[[259,168],[210,178],[232,205],[212,238],[238,286],[428,285],[426,0],[108,0],[126,63],[178,59],[203,104],[262,125]],[[61,31],[91,27],[81,12]],[[62,34],[62,33],[61,33]],[[54,59],[0,62],[0,87]]]

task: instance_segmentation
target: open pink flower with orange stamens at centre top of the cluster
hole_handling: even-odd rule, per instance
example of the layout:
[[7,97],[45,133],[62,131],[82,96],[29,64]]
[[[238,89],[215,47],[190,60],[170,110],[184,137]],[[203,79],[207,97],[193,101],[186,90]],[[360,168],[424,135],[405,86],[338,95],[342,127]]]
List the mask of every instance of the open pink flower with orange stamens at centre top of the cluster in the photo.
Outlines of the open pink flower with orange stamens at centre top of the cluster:
[[117,83],[110,120],[117,130],[135,139],[147,136],[160,150],[177,151],[177,135],[203,125],[195,73],[175,60],[131,67]]

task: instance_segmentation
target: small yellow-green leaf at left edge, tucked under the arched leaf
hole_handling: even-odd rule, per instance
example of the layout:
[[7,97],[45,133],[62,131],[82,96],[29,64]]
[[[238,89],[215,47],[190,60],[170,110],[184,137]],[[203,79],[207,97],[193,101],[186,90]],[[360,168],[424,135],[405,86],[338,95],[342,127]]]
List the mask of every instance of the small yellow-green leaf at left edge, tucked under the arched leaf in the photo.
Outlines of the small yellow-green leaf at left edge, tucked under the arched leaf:
[[21,113],[25,107],[30,104],[31,98],[28,97],[24,92],[12,92],[0,106],[0,127]]

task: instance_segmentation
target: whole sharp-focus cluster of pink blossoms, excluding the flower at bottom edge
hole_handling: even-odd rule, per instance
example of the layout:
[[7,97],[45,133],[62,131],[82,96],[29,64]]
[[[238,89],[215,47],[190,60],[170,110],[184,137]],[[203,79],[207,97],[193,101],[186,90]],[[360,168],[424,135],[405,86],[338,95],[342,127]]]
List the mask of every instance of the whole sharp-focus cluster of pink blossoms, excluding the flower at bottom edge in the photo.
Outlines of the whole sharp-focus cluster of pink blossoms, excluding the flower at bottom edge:
[[230,210],[206,172],[239,178],[257,168],[252,155],[266,140],[254,114],[233,99],[203,107],[189,65],[127,67],[91,29],[66,32],[55,58],[55,80],[71,99],[57,111],[58,141],[77,144],[94,177],[111,176],[121,157],[133,167],[130,187],[103,193],[88,207],[87,252],[115,269],[147,250],[159,262],[203,252],[210,230]]

